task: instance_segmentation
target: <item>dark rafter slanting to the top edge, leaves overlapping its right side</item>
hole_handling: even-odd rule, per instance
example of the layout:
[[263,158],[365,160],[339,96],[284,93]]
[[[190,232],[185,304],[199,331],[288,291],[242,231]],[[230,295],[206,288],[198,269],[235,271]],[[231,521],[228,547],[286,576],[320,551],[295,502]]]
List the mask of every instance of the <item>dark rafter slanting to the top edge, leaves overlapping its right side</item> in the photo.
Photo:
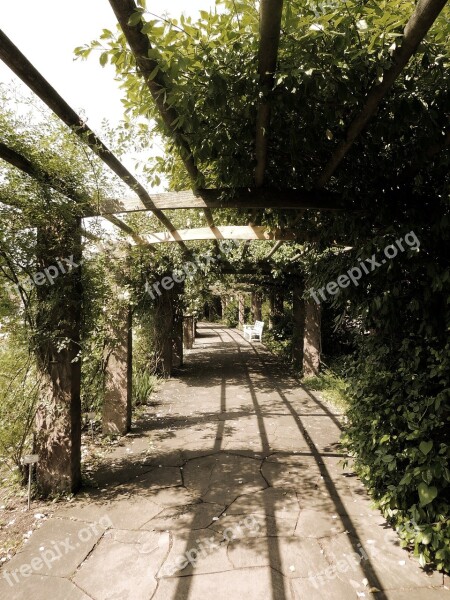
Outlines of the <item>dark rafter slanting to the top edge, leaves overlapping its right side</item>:
[[[177,110],[167,103],[167,91],[170,88],[170,83],[162,72],[161,65],[154,58],[149,58],[152,45],[148,36],[142,32],[144,23],[141,20],[136,25],[129,24],[131,16],[136,13],[138,8],[134,0],[109,0],[109,3],[135,56],[138,71],[144,78],[164,124],[179,150],[181,160],[191,178],[192,186],[194,189],[201,187],[204,185],[204,176],[195,164],[192,150],[183,135],[182,129],[176,126],[179,121]],[[204,214],[208,225],[214,227],[211,210],[205,208]]]

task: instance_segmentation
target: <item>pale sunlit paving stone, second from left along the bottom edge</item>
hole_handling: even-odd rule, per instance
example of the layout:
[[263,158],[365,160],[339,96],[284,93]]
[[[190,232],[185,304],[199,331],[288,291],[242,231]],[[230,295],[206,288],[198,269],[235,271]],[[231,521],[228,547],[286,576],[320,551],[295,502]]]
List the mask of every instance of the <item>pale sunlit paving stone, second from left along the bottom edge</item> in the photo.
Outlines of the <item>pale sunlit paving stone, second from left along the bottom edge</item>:
[[73,581],[94,600],[148,600],[169,547],[164,532],[110,531]]

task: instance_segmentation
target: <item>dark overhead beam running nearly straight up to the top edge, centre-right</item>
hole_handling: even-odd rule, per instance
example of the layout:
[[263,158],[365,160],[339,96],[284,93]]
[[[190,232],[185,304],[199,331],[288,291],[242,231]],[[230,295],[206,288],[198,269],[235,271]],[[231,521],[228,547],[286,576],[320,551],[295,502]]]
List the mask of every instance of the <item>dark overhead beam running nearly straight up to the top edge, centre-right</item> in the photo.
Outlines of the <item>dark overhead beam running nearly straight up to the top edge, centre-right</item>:
[[267,136],[270,124],[270,93],[274,85],[280,42],[283,0],[261,0],[259,9],[260,45],[258,57],[260,102],[256,117],[256,169],[255,184],[264,183],[267,164]]

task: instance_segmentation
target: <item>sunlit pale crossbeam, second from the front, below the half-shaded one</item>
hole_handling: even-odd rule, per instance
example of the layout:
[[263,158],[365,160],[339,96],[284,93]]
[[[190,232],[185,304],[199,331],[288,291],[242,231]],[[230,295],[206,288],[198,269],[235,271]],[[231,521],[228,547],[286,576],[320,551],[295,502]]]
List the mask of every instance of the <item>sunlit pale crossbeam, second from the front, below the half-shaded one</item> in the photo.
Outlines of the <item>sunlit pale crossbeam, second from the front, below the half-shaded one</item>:
[[198,229],[179,229],[173,232],[158,232],[143,235],[147,244],[194,240],[297,240],[292,230],[268,231],[266,227],[250,225],[200,227]]

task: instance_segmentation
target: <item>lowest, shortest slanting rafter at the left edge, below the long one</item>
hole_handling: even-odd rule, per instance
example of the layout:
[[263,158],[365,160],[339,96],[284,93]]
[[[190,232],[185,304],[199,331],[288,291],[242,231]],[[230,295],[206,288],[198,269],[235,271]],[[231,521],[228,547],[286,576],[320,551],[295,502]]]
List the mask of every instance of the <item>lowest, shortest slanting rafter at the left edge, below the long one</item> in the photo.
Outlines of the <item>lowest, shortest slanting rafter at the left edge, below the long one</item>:
[[[70,198],[77,204],[80,204],[80,212],[82,212],[82,206],[86,203],[86,198],[84,198],[77,191],[73,190],[68,186],[62,179],[59,177],[50,175],[40,167],[33,164],[28,158],[16,152],[3,142],[0,142],[0,158],[10,165],[14,166],[16,169],[19,169],[23,173],[26,173],[36,181],[40,181],[45,185],[50,186],[63,196]],[[108,221],[110,221],[113,225],[124,231],[127,235],[131,236],[133,240],[137,244],[145,243],[144,240],[126,223],[124,223],[121,219],[115,217],[114,215],[105,215],[104,217]]]

